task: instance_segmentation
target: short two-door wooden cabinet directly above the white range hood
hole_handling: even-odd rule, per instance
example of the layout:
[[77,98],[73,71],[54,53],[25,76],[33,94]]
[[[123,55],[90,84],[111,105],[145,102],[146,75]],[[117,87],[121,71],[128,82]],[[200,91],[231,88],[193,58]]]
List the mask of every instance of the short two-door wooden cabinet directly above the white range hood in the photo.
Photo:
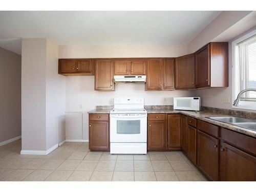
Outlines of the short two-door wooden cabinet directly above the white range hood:
[[114,75],[145,75],[145,59],[115,59]]

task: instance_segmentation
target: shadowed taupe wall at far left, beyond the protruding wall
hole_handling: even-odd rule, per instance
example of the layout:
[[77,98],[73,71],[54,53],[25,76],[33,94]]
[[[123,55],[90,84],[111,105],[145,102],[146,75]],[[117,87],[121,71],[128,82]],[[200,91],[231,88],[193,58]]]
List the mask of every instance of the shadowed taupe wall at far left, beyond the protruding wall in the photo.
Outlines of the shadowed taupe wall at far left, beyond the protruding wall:
[[0,142],[21,135],[22,57],[0,48]]

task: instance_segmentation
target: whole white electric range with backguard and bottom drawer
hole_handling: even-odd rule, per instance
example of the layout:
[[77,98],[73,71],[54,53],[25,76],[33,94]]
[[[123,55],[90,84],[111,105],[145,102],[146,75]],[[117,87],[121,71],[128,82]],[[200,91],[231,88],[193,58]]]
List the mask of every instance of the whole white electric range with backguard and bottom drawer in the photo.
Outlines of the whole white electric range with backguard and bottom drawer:
[[115,98],[110,112],[110,153],[146,154],[147,113],[143,98]]

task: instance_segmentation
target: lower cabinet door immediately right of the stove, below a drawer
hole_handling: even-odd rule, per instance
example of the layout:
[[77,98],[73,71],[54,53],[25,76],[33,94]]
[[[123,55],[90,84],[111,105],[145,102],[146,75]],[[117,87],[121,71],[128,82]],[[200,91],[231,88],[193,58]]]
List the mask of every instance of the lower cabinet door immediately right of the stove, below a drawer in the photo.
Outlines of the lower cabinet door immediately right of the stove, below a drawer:
[[164,150],[165,121],[148,121],[147,150]]

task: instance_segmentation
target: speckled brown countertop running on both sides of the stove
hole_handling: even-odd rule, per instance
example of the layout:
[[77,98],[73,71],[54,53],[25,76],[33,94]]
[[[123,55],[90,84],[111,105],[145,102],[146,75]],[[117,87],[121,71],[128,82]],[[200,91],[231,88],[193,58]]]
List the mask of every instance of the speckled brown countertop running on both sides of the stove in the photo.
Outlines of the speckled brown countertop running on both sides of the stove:
[[[93,111],[89,111],[89,114],[109,114],[112,109],[96,109]],[[208,119],[206,117],[212,117],[212,116],[230,116],[230,115],[225,115],[225,114],[220,114],[220,113],[212,113],[212,112],[207,112],[207,111],[200,111],[200,112],[195,112],[195,111],[180,111],[180,110],[173,110],[173,109],[146,109],[148,114],[154,114],[154,113],[168,113],[168,114],[174,114],[174,113],[180,113],[183,115],[187,115],[189,117],[194,117],[196,119],[212,123],[218,126],[225,127],[226,129],[236,131],[239,133],[243,133],[248,136],[252,136],[256,138],[256,131],[253,130],[248,130],[244,129],[243,127],[239,127],[236,125],[228,124],[228,123],[223,123],[220,121]]]

